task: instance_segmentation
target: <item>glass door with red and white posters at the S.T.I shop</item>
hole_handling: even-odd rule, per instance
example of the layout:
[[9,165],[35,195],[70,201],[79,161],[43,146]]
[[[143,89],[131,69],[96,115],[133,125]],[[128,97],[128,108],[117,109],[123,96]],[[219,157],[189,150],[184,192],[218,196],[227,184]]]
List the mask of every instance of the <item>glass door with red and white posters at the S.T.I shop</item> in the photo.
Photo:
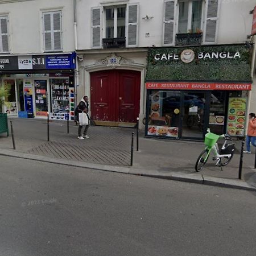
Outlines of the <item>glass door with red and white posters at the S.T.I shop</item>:
[[37,117],[47,117],[47,80],[35,80],[35,108]]

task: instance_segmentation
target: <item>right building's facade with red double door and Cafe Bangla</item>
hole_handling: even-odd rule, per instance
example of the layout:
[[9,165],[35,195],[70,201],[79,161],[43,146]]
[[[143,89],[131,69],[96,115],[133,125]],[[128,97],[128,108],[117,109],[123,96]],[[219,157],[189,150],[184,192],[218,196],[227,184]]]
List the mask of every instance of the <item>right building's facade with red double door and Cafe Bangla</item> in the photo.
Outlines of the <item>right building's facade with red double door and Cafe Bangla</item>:
[[[245,115],[256,109],[254,5],[78,1],[77,92],[89,96],[93,119],[129,126],[139,117],[145,135],[156,137],[203,139],[208,126],[244,135]],[[232,98],[245,104],[233,110]],[[242,123],[228,122],[229,108]]]

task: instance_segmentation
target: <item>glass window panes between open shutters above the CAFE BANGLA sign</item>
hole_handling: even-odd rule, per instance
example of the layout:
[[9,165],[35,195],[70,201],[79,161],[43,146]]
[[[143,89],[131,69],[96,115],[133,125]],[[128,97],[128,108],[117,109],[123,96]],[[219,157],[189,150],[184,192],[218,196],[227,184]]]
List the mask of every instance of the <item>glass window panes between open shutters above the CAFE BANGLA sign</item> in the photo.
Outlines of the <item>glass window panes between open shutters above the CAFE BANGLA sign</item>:
[[177,34],[200,33],[203,1],[179,1]]

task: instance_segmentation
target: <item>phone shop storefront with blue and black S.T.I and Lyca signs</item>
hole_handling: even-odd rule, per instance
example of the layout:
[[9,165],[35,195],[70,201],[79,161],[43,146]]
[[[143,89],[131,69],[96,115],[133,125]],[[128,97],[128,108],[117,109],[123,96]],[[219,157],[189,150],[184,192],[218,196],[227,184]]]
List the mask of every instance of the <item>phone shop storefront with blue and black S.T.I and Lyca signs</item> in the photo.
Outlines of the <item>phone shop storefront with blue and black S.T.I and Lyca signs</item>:
[[65,119],[75,109],[75,53],[0,57],[0,86],[10,89],[3,110],[21,118]]

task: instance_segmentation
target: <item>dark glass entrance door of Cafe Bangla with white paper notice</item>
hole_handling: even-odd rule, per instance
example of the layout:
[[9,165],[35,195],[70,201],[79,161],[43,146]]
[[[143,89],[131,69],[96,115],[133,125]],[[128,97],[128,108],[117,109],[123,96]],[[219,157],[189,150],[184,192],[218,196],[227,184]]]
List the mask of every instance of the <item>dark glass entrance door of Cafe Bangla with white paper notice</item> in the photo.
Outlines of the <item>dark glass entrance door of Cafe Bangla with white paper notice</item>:
[[202,139],[205,123],[206,92],[183,92],[181,96],[181,137]]

